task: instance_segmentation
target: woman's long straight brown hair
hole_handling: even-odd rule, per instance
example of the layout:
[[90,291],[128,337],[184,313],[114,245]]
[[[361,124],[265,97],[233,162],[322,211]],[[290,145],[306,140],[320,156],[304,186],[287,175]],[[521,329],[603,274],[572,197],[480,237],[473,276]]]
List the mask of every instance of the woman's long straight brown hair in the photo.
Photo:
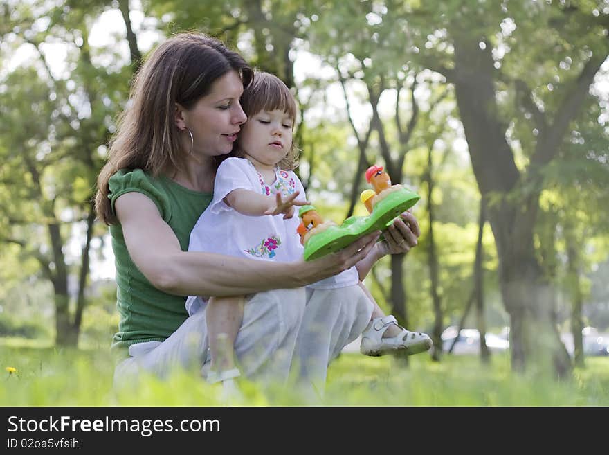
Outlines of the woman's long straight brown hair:
[[229,71],[239,73],[244,87],[252,80],[241,55],[202,33],[175,35],[149,55],[134,78],[129,105],[118,118],[108,161],[98,175],[96,212],[102,222],[118,221],[108,199],[108,181],[118,170],[143,169],[156,176],[183,168],[188,152],[181,149],[176,103],[191,109]]

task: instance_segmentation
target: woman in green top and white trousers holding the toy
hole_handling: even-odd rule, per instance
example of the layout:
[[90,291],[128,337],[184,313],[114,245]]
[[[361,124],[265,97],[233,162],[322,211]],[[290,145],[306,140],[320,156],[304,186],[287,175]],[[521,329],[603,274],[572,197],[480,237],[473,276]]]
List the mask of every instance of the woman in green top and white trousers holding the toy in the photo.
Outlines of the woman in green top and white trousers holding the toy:
[[[338,355],[370,319],[367,298],[323,310],[303,285],[353,265],[370,270],[386,253],[417,243],[414,217],[312,262],[280,264],[186,251],[190,230],[212,199],[217,157],[233,148],[246,116],[239,104],[252,70],[206,35],[176,35],[158,46],[131,88],[109,159],[98,177],[96,210],[109,224],[120,313],[113,349],[124,359],[115,381],[145,370],[207,363],[205,312],[187,318],[185,296],[247,294],[235,353],[248,377],[287,378],[295,351]],[[310,297],[310,296],[309,296]],[[315,317],[309,317],[315,314]],[[313,320],[314,319],[314,320]],[[307,344],[302,327],[331,334]],[[301,362],[302,363],[302,362]],[[316,371],[316,374],[318,372]],[[325,377],[324,371],[318,376]]]

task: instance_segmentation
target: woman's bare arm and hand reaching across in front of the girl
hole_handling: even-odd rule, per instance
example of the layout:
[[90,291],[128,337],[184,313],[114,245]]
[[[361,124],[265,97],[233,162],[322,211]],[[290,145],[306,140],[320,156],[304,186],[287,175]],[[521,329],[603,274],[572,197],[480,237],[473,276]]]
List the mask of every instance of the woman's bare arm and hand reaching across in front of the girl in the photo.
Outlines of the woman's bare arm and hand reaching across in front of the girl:
[[300,287],[348,269],[374,248],[379,232],[311,262],[277,263],[181,251],[156,205],[141,193],[116,199],[116,215],[131,258],[154,287],[168,294],[232,296]]

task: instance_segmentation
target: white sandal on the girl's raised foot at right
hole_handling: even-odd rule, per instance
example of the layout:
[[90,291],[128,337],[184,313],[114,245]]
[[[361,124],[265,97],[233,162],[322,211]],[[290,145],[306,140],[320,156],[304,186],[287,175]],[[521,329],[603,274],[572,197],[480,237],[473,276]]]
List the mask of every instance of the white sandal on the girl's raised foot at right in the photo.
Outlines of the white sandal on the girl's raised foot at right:
[[[383,338],[383,334],[392,324],[401,328],[395,337]],[[410,332],[397,323],[394,316],[384,316],[372,319],[362,332],[360,352],[364,355],[377,357],[396,351],[403,351],[405,355],[423,353],[431,348],[432,342],[428,334]]]

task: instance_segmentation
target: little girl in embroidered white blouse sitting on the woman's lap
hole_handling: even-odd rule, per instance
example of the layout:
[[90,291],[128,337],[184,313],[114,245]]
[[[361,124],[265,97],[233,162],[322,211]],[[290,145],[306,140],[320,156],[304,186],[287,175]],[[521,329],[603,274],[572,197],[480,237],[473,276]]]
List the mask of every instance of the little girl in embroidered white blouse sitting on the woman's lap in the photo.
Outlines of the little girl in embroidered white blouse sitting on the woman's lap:
[[[214,199],[192,229],[188,249],[278,262],[301,260],[303,247],[297,233],[300,220],[294,206],[308,202],[300,179],[292,172],[298,159],[292,141],[296,100],[279,78],[256,73],[241,103],[248,120],[231,157],[217,170]],[[409,332],[397,325],[393,316],[385,316],[359,275],[358,269],[351,267],[307,288],[336,292],[351,286],[363,289],[374,305],[372,320],[362,334],[363,354],[404,350],[410,355],[428,350],[428,335]],[[239,376],[233,345],[242,324],[243,301],[243,296],[212,297],[208,301],[190,296],[186,301],[189,314],[206,306],[209,382],[223,381],[228,386]]]

